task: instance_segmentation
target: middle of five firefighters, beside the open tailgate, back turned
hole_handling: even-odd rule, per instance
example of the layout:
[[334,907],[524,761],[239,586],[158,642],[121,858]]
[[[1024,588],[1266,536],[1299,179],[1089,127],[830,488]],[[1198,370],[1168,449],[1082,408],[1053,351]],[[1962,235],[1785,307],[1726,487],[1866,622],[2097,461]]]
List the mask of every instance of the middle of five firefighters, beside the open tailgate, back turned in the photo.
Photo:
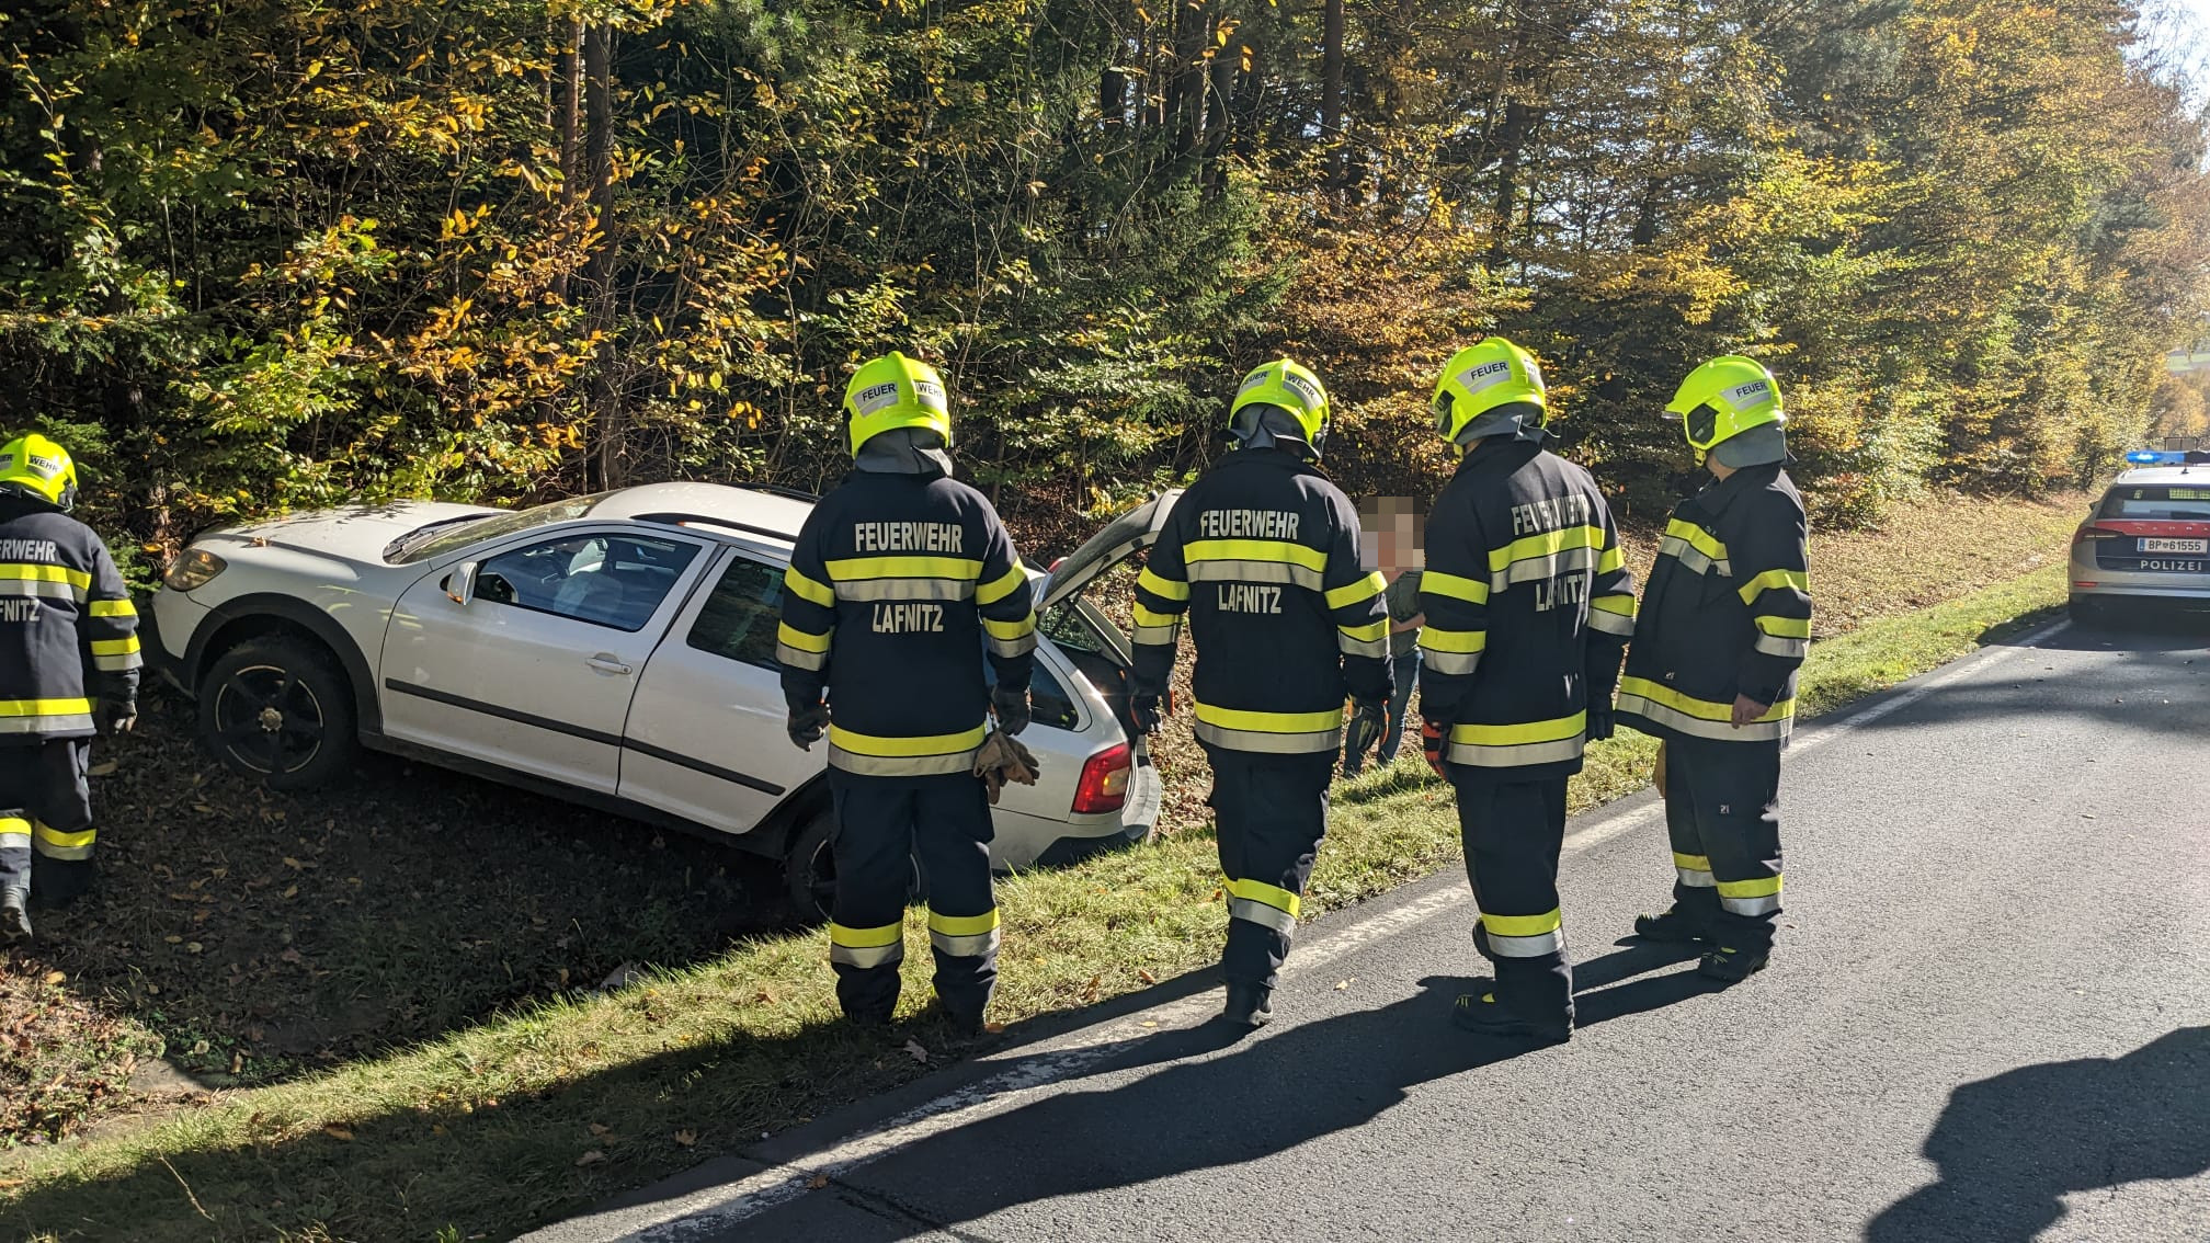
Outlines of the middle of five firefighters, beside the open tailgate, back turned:
[[1366,737],[1388,714],[1388,608],[1359,564],[1359,518],[1315,462],[1319,376],[1286,358],[1229,409],[1235,449],[1182,493],[1136,582],[1134,712],[1158,723],[1182,617],[1198,646],[1196,734],[1213,767],[1229,938],[1222,1017],[1260,1026],[1328,832],[1344,697]]

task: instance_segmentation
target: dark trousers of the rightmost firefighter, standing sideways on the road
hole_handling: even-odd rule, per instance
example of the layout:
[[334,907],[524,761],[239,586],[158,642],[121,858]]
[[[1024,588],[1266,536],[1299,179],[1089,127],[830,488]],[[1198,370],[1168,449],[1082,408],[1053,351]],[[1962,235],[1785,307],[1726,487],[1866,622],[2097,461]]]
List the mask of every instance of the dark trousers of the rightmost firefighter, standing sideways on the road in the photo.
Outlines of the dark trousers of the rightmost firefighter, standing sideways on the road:
[[1770,949],[1781,913],[1781,743],[1669,739],[1673,902],[1728,949]]

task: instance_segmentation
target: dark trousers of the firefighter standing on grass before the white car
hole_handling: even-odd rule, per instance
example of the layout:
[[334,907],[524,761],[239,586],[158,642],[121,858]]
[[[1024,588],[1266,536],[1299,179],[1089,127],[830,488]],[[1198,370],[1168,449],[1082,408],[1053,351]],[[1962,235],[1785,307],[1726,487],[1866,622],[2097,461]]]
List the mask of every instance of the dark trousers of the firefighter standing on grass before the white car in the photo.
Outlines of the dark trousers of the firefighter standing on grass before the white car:
[[913,860],[928,887],[937,997],[981,1015],[997,989],[997,900],[990,894],[990,794],[979,776],[857,776],[829,770],[835,798],[835,900],[829,962],[846,1015],[888,1020],[906,958]]

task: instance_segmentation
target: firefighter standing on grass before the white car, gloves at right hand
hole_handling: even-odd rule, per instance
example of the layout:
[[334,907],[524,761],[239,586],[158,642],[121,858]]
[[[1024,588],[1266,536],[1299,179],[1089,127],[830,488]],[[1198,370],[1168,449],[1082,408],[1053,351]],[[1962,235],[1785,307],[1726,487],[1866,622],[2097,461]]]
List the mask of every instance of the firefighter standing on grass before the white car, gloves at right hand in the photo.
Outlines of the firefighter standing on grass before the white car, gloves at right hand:
[[853,471],[798,531],[776,644],[791,741],[811,750],[829,737],[829,962],[851,1022],[891,1022],[919,858],[937,1002],[972,1035],[997,986],[990,801],[975,756],[990,712],[1003,734],[1028,725],[1036,613],[997,511],[950,478],[935,367],[873,358],[853,372],[844,411]]

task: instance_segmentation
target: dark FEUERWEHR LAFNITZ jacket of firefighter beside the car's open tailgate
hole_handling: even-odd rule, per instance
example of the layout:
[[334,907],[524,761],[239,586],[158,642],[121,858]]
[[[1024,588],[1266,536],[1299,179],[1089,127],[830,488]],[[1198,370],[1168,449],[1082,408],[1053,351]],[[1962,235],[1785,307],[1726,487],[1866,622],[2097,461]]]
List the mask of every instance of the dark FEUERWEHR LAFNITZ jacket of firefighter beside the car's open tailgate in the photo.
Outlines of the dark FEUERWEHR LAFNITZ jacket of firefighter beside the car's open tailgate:
[[1333,752],[1346,694],[1390,694],[1388,602],[1359,566],[1359,515],[1288,449],[1229,453],[1167,515],[1136,579],[1136,694],[1165,694],[1185,613],[1196,734],[1216,748]]

